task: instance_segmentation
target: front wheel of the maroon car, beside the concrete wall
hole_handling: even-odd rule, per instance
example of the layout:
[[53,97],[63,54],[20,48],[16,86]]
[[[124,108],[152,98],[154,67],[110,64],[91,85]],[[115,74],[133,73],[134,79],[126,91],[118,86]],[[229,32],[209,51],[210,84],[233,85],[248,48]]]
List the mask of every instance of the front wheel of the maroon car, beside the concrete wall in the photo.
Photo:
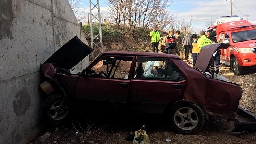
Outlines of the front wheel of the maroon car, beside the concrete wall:
[[63,96],[51,95],[43,103],[43,114],[46,121],[52,125],[62,125],[68,119],[69,111],[65,108]]

